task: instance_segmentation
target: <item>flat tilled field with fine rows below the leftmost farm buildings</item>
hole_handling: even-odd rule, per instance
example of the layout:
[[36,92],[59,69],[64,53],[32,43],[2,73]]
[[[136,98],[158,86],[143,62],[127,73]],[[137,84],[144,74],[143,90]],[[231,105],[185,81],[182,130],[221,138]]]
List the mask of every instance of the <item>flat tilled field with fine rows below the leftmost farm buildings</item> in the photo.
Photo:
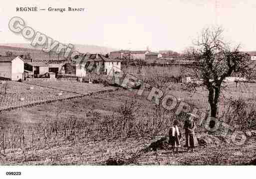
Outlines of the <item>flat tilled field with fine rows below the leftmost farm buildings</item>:
[[[5,81],[5,84],[0,84],[0,110],[39,102],[72,98],[108,89],[114,88],[76,81],[35,80],[25,81],[25,83]],[[58,95],[59,93],[61,93],[61,96]],[[24,98],[23,101],[20,100],[21,98]]]

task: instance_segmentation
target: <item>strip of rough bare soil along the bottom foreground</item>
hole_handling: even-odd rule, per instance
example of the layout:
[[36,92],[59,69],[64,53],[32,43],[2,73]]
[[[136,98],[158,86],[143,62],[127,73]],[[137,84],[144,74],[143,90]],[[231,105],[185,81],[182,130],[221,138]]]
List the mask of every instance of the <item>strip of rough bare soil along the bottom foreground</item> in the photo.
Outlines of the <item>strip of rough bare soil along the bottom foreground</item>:
[[152,141],[128,139],[122,147],[120,141],[88,141],[83,138],[68,144],[41,150],[17,151],[1,156],[1,165],[105,165],[111,158],[128,161],[126,165],[248,165],[256,158],[256,140],[243,146],[221,143],[198,147],[194,153],[181,148],[179,153],[159,150],[140,153]]

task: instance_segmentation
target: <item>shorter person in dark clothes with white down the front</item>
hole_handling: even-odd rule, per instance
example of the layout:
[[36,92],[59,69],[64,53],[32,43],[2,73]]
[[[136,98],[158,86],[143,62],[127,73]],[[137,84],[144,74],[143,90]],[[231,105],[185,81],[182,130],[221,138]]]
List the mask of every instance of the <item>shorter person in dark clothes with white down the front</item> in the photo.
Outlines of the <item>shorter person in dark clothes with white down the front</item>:
[[169,144],[172,146],[173,152],[176,149],[178,153],[179,147],[181,147],[181,131],[178,128],[178,121],[174,120],[173,127],[169,130]]

